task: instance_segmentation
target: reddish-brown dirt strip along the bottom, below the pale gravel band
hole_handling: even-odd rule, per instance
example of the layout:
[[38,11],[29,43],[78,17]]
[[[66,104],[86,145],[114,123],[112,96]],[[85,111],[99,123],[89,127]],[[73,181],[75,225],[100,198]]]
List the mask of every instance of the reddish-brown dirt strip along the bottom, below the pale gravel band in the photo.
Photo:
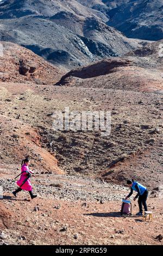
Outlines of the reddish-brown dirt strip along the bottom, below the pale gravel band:
[[[25,196],[26,198],[26,196]],[[162,201],[148,200],[153,222],[121,217],[120,202],[77,202],[39,198],[0,201],[6,216],[1,243],[15,245],[162,245]],[[136,205],[136,206],[135,206]],[[156,206],[157,205],[157,206]],[[159,205],[159,206],[158,206]],[[137,212],[133,204],[133,214]],[[2,216],[2,214],[1,214]]]

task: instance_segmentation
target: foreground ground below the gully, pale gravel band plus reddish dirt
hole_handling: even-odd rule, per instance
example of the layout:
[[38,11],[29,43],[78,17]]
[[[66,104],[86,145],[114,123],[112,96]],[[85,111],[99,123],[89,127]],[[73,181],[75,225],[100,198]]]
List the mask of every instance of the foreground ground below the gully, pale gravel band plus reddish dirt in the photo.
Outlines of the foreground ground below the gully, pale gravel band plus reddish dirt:
[[[15,181],[1,168],[0,244],[9,245],[161,245],[161,198],[149,198],[153,222],[134,216],[121,217],[121,199],[129,190],[120,185],[81,176],[36,174],[32,178],[38,197],[27,192],[17,198]],[[146,230],[146,233],[145,233]],[[2,239],[1,239],[2,237]]]

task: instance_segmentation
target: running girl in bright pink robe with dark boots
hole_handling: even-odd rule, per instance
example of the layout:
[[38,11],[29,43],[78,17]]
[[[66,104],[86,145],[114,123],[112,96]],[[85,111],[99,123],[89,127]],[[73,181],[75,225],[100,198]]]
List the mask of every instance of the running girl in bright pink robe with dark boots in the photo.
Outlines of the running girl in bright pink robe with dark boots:
[[36,194],[32,193],[32,186],[30,184],[29,178],[31,176],[31,173],[33,173],[33,172],[32,172],[32,170],[29,169],[29,163],[30,163],[30,160],[28,158],[26,158],[22,161],[21,177],[16,182],[16,184],[19,186],[19,188],[17,188],[17,190],[15,190],[14,192],[12,192],[12,194],[14,194],[15,197],[17,197],[16,194],[22,190],[28,191],[30,194],[30,197],[32,199],[37,197]]

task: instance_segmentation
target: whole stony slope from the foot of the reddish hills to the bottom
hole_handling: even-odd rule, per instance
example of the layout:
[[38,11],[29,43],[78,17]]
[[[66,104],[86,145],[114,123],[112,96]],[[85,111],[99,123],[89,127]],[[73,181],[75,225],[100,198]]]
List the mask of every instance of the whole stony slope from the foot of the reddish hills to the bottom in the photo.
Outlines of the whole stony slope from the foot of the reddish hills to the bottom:
[[[162,234],[161,95],[34,83],[0,86],[0,244],[162,244],[156,239]],[[54,131],[52,113],[67,106],[71,111],[110,110],[111,135]],[[38,195],[32,202],[27,192],[11,196],[26,155]],[[123,185],[130,177],[149,188],[152,223],[120,216],[121,198],[129,192]],[[133,215],[137,210],[133,204]]]

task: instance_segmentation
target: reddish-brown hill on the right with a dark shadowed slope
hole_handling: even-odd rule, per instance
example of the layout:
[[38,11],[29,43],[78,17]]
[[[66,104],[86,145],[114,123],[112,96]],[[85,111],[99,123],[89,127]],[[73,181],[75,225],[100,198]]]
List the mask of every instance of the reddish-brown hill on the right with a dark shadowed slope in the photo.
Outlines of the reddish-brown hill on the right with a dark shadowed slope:
[[162,93],[161,44],[162,40],[146,43],[126,57],[112,57],[71,70],[56,85]]

